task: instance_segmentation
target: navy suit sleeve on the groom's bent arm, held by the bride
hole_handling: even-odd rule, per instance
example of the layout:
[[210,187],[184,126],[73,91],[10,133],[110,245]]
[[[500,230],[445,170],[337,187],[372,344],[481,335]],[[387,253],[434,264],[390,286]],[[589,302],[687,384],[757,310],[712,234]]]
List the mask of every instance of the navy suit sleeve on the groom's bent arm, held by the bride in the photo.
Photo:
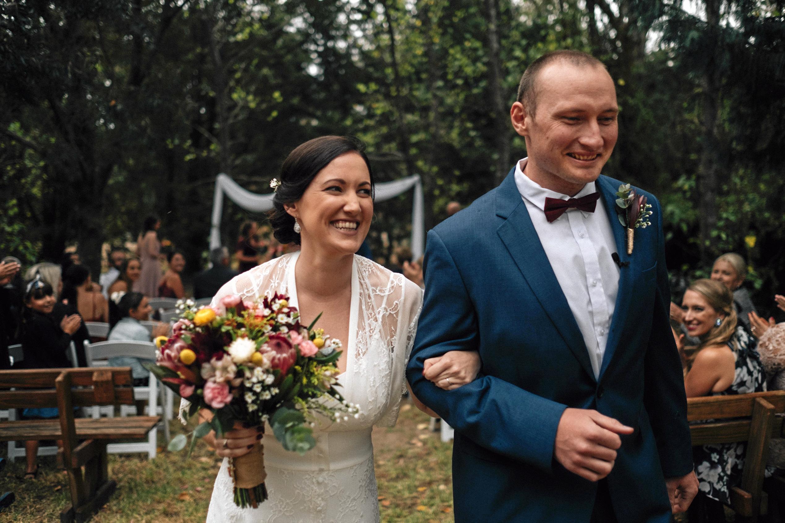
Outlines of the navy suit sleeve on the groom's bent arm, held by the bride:
[[451,427],[486,449],[551,471],[553,443],[566,405],[494,376],[442,390],[422,376],[423,363],[450,350],[479,350],[477,315],[455,262],[436,231],[425,249],[425,298],[407,379]]

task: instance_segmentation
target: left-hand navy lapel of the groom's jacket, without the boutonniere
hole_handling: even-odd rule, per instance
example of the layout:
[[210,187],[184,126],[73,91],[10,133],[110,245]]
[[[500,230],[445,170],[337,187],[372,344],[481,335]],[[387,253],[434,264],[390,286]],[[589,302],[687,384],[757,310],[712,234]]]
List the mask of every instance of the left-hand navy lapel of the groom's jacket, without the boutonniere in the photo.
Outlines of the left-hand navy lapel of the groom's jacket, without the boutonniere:
[[510,256],[513,256],[520,273],[537,296],[540,305],[564,338],[564,343],[567,343],[583,369],[594,378],[586,343],[583,342],[578,323],[572,315],[556,274],[550,267],[548,256],[542,249],[542,243],[534,224],[531,223],[528,209],[523,198],[520,197],[515,184],[514,168],[496,189],[496,214],[506,219],[496,230],[499,238],[502,239]]

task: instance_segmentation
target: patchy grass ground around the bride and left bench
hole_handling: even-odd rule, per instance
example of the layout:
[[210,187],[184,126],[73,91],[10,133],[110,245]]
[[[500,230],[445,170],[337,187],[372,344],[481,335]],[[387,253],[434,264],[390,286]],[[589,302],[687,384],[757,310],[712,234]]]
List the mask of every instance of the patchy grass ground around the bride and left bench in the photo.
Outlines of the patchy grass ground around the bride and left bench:
[[[450,459],[452,445],[429,432],[428,416],[404,402],[396,427],[374,429],[374,454],[382,521],[411,523],[453,521]],[[172,423],[172,432],[181,431]],[[159,441],[163,444],[162,431]],[[6,445],[0,444],[0,457]],[[117,492],[92,521],[95,523],[179,523],[204,521],[221,459],[199,442],[191,459],[166,452],[148,461],[141,455],[109,456],[109,477]],[[0,512],[0,522],[60,521],[70,503],[68,477],[57,470],[54,456],[38,459],[38,478],[24,481],[24,459],[0,472],[0,492],[13,491],[16,501]]]

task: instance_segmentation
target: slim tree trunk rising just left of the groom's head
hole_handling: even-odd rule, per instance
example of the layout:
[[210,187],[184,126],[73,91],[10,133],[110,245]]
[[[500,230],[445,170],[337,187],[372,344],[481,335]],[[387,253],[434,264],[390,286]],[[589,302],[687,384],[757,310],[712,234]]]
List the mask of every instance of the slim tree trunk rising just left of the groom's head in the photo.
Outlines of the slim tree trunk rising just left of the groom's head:
[[501,52],[498,40],[496,0],[485,0],[488,20],[488,87],[491,92],[491,118],[494,122],[495,179],[502,183],[509,170],[509,117],[502,93]]

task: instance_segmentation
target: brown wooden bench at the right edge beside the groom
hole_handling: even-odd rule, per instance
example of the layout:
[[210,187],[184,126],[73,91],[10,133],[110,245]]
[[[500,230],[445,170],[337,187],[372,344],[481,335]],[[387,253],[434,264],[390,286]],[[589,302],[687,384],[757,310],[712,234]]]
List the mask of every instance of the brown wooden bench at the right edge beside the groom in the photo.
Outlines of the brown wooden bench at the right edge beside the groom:
[[783,437],[783,412],[785,390],[687,400],[688,421],[712,420],[690,426],[693,446],[747,443],[741,484],[730,491],[736,521],[758,521],[767,512],[766,459],[771,438]]

